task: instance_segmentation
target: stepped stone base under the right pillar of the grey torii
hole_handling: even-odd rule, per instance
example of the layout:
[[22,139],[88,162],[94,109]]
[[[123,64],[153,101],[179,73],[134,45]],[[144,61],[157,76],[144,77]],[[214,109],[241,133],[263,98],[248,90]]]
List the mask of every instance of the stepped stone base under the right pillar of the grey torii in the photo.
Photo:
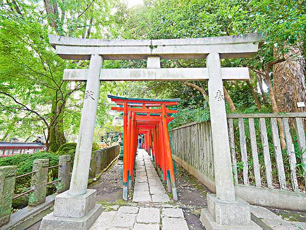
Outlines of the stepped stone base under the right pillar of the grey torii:
[[262,229],[251,220],[250,206],[243,199],[228,202],[208,194],[207,201],[208,209],[202,209],[200,216],[206,229]]

